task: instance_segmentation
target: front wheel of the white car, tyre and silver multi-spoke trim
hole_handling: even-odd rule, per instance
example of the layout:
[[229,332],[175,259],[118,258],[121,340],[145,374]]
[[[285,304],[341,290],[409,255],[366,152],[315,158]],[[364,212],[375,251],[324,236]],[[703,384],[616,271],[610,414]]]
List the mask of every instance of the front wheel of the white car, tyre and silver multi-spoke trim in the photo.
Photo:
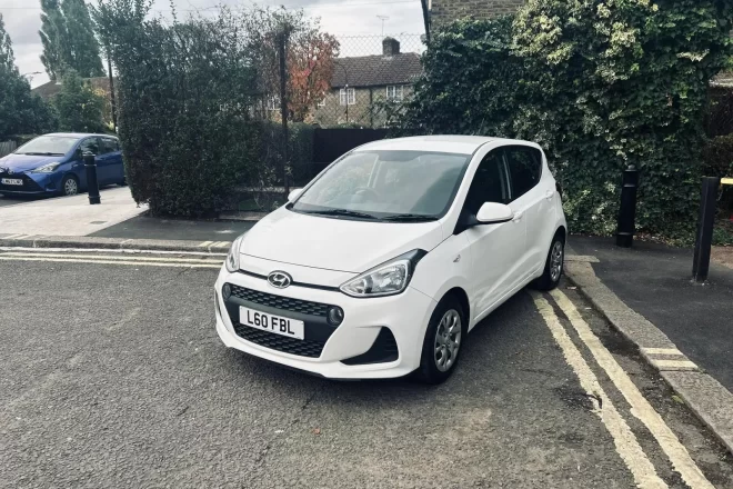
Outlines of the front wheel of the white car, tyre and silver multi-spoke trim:
[[435,307],[428,323],[416,378],[424,383],[442,383],[455,370],[461,347],[468,335],[468,321],[461,302],[444,297]]

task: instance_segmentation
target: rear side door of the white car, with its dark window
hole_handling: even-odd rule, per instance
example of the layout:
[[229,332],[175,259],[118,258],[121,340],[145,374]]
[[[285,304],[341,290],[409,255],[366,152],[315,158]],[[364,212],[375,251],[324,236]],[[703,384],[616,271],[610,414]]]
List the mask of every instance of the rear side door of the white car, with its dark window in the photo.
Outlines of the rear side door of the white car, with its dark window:
[[[545,228],[555,223],[552,179],[542,178],[542,151],[529,146],[510,146],[504,151],[512,187],[514,212],[522,212],[526,221],[526,248],[520,259],[523,278],[544,267],[548,256]],[[554,232],[554,230],[550,231]],[[548,241],[548,242],[545,242]]]

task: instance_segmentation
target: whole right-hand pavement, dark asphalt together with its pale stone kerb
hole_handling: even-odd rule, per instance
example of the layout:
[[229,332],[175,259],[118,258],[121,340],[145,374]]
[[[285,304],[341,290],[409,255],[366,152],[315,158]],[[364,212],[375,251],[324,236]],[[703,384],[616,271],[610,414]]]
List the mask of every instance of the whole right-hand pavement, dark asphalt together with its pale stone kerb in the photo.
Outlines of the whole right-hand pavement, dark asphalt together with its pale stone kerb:
[[[733,453],[733,269],[690,281],[692,250],[573,237],[568,277]],[[590,255],[593,253],[593,255]]]

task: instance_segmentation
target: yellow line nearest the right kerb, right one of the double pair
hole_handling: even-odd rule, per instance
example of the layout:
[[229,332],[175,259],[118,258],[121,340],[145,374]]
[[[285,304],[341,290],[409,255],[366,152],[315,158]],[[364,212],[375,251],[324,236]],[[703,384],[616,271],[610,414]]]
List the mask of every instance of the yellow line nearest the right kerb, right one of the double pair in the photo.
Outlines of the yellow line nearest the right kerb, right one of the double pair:
[[646,398],[642,396],[634,382],[629,378],[629,375],[626,375],[613,358],[613,355],[601,343],[601,340],[593,333],[591,327],[588,326],[588,322],[581,317],[575,306],[568,299],[568,296],[560,290],[553,290],[550,295],[565,313],[580,339],[591,350],[591,355],[593,355],[595,361],[606,372],[629,405],[631,405],[631,413],[643,422],[652,436],[654,436],[656,442],[662,447],[662,450],[672,462],[674,470],[682,476],[682,480],[692,489],[714,489],[714,486],[710,483],[694,460],[692,460],[687,449],[684,448]]

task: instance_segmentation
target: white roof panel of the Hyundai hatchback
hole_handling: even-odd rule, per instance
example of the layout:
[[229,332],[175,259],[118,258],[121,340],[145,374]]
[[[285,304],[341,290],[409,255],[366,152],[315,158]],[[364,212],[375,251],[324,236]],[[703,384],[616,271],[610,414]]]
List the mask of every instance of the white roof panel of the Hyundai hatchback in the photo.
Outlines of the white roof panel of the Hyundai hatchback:
[[456,154],[473,154],[486,143],[494,146],[529,144],[539,148],[530,141],[519,139],[490,138],[486,136],[415,136],[411,138],[382,139],[360,146],[357,151],[370,150],[420,150],[449,152]]

